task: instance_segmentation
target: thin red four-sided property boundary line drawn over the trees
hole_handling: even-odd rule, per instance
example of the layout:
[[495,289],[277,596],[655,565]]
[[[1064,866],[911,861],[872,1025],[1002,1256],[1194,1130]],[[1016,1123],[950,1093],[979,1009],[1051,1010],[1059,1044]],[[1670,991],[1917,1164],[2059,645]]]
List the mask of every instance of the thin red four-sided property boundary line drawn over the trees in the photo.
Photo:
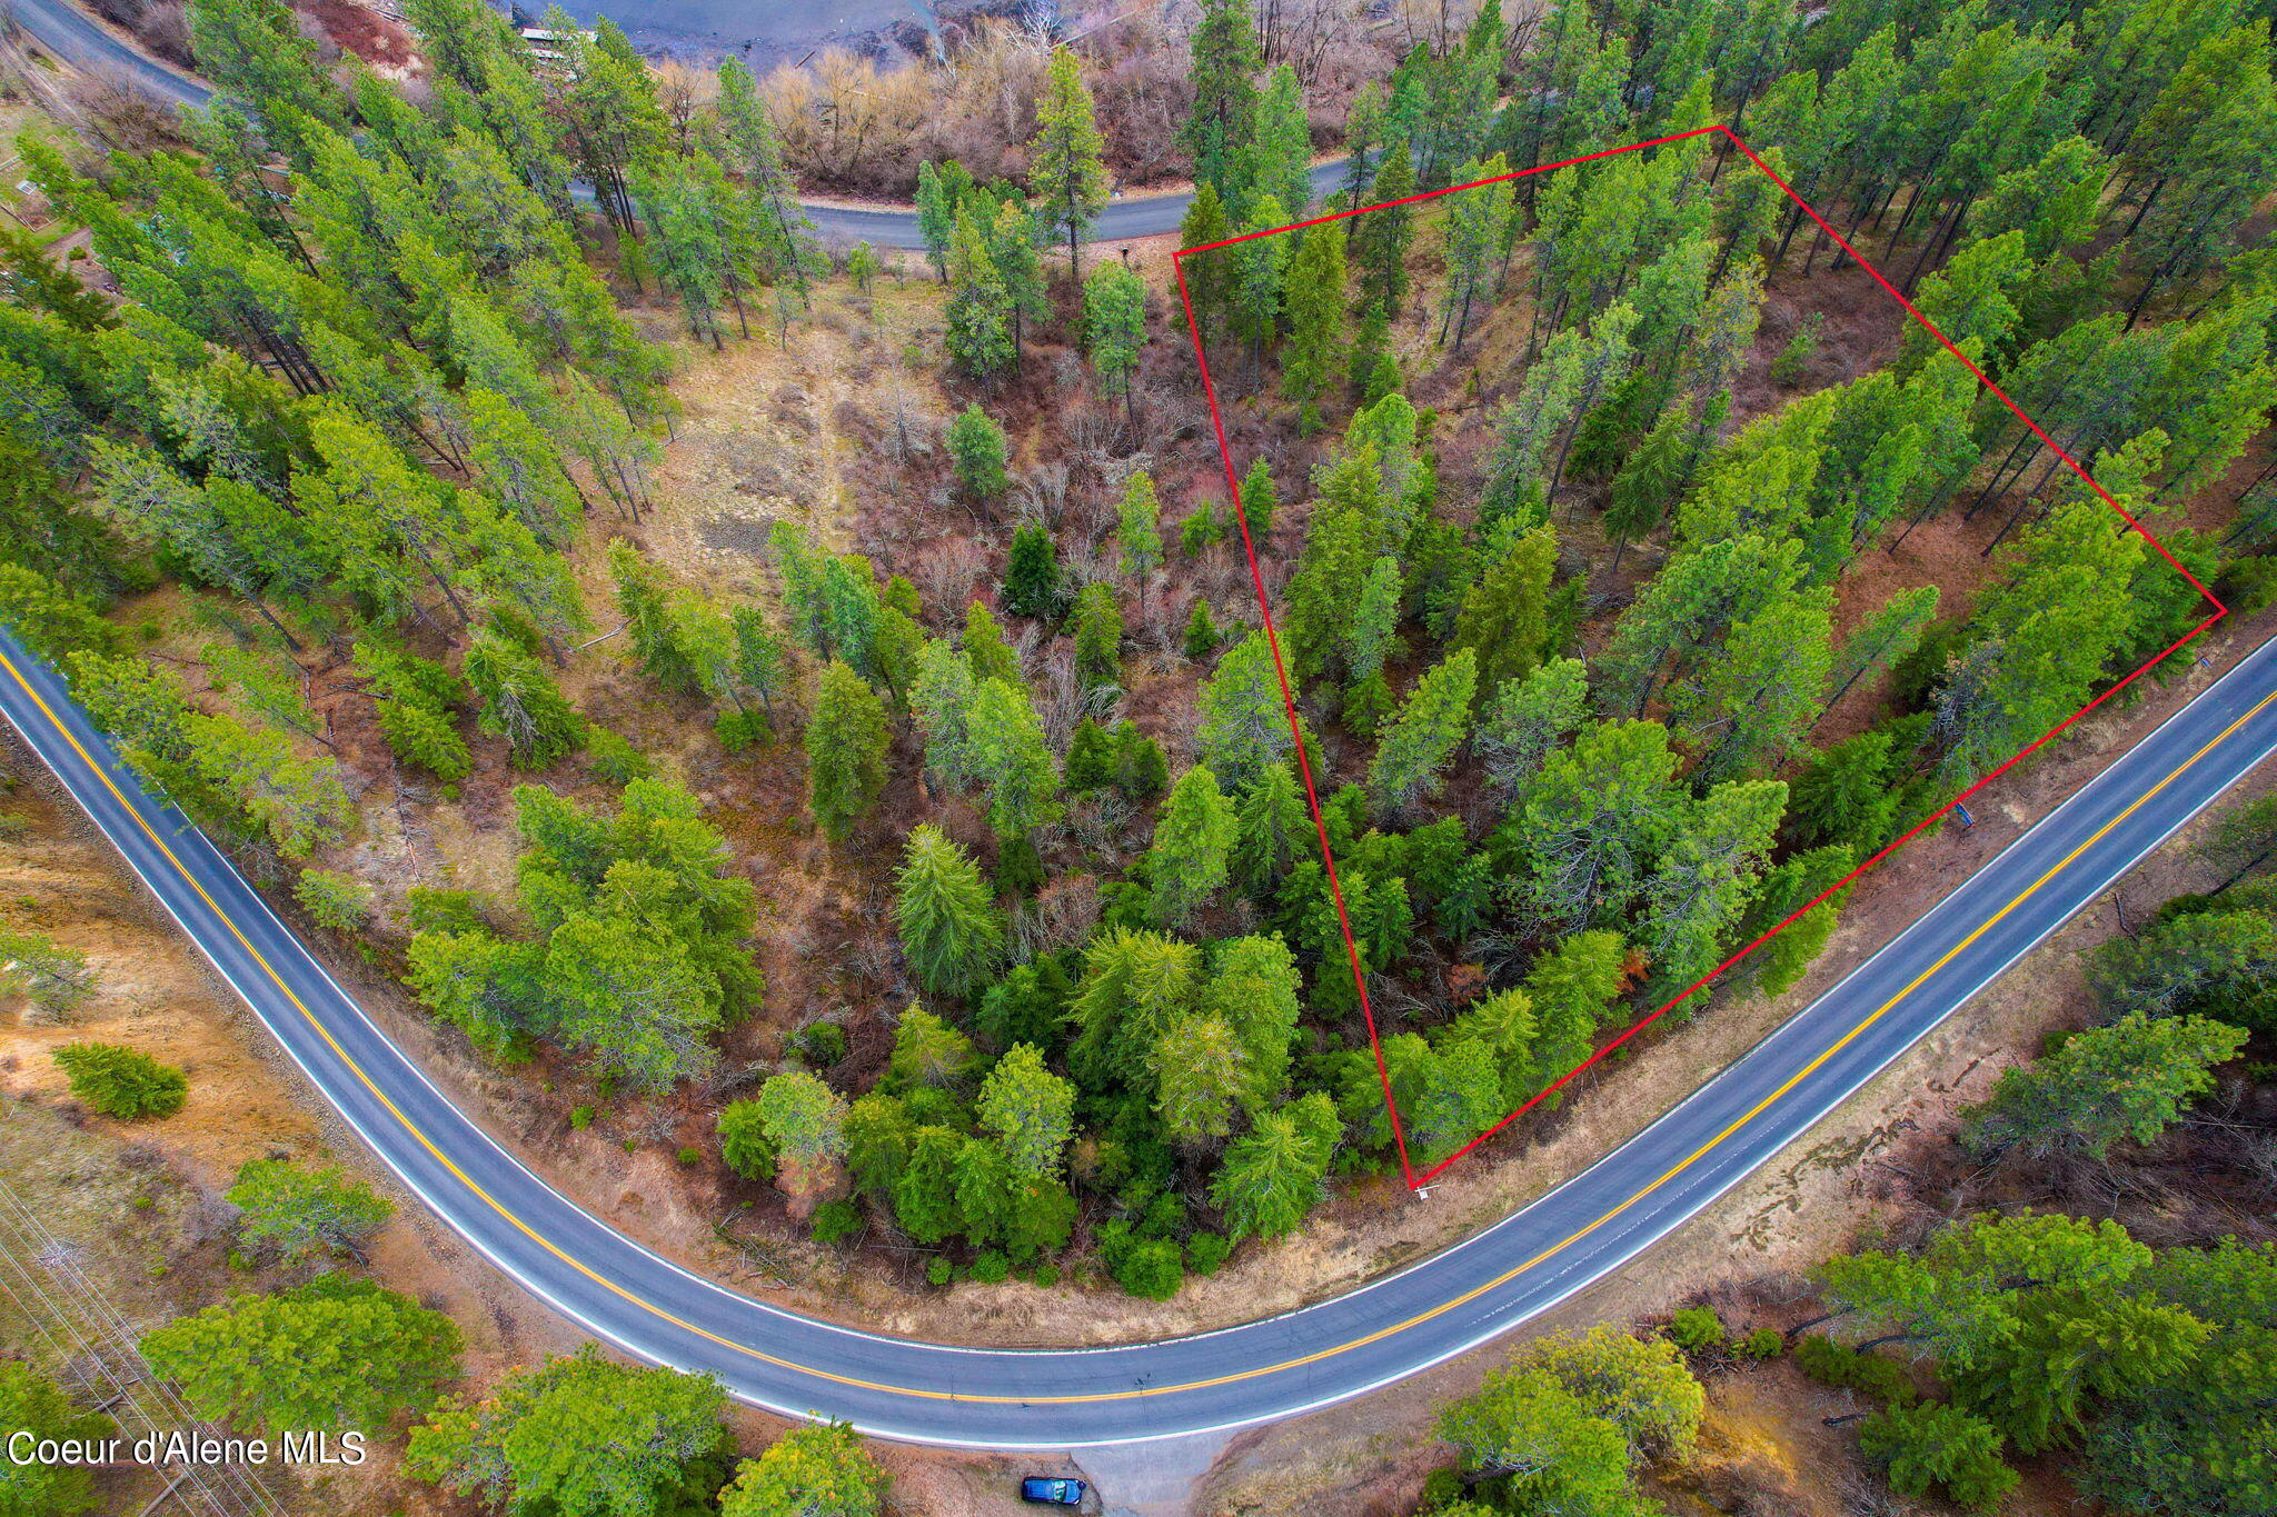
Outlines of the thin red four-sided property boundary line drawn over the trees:
[[[2156,548],[2159,557],[2163,557],[2175,569],[2175,573],[2179,573],[2184,580],[2188,580],[2190,587],[2200,596],[2206,598],[2206,603],[2213,607],[2213,614],[2206,616],[2204,621],[2200,621],[2197,625],[2193,625],[2188,632],[2184,632],[2181,637],[2177,637],[2165,648],[2161,648],[2156,655],[2152,655],[2140,669],[2136,669],[2134,673],[2129,673],[2124,680],[2118,680],[2115,685],[2111,685],[2111,689],[2106,689],[2104,694],[2095,696],[2083,707],[2079,707],[2077,712],[2072,712],[2070,716],[2065,716],[2063,721],[2058,721],[2054,728],[2049,728],[2047,732],[2042,732],[2040,739],[2033,741],[2029,748],[2024,748],[2022,753],[2017,753],[2015,757],[2011,757],[2006,764],[2001,764],[1992,773],[1983,776],[1981,780],[1976,780],[1974,785],[1970,785],[1967,789],[1963,789],[1958,796],[1954,796],[1951,801],[1947,801],[1945,805],[1940,805],[1935,812],[1931,812],[1929,816],[1924,816],[1922,821],[1917,821],[1901,837],[1897,837],[1894,842],[1890,842],[1888,846],[1883,846],[1879,853],[1874,853],[1872,857],[1867,857],[1863,864],[1858,864],[1856,869],[1851,869],[1847,876],[1842,876],[1840,880],[1835,880],[1833,885],[1828,885],[1826,889],[1822,889],[1817,896],[1812,896],[1803,905],[1799,905],[1792,912],[1787,912],[1769,930],[1765,930],[1760,937],[1756,937],[1753,942],[1749,942],[1746,946],[1742,946],[1737,953],[1733,953],[1731,958],[1726,958],[1721,964],[1717,964],[1715,969],[1710,969],[1708,973],[1703,973],[1699,980],[1694,980],[1685,989],[1680,989],[1674,996],[1669,996],[1664,1003],[1660,1003],[1658,1008],[1653,1008],[1646,1017],[1639,1017],[1619,1037],[1614,1037],[1603,1048],[1598,1048],[1596,1053],[1592,1053],[1587,1060],[1583,1060],[1580,1064],[1576,1064],[1573,1069],[1569,1069],[1555,1083],[1551,1083],[1551,1085],[1542,1087],[1539,1092],[1535,1092],[1535,1096],[1530,1101],[1526,1101],[1526,1105],[1516,1108],[1514,1112],[1510,1112],[1507,1117],[1503,1117],[1501,1121],[1496,1121],[1491,1128],[1487,1128],[1485,1133],[1480,1133],[1478,1137],[1473,1137],[1462,1149],[1457,1149],[1455,1153],[1446,1155],[1444,1160],[1439,1160],[1437,1164],[1432,1164],[1423,1174],[1416,1174],[1414,1162],[1407,1155],[1407,1130],[1400,1124],[1400,1108],[1398,1108],[1398,1101],[1394,1101],[1394,1096],[1391,1096],[1391,1071],[1384,1067],[1384,1044],[1382,1044],[1382,1037],[1375,1030],[1375,1008],[1368,1003],[1368,980],[1366,980],[1366,976],[1359,969],[1359,948],[1353,942],[1353,921],[1350,921],[1350,917],[1346,914],[1346,907],[1343,907],[1343,885],[1337,878],[1337,857],[1334,857],[1334,853],[1327,846],[1327,823],[1321,816],[1321,796],[1314,789],[1312,760],[1307,760],[1307,755],[1305,755],[1305,735],[1302,735],[1302,728],[1298,726],[1298,714],[1296,714],[1296,691],[1291,689],[1291,685],[1289,685],[1289,671],[1282,664],[1280,632],[1273,625],[1273,607],[1271,607],[1271,598],[1266,596],[1264,571],[1257,564],[1257,544],[1250,539],[1250,519],[1248,519],[1248,512],[1241,507],[1241,480],[1239,480],[1239,473],[1234,469],[1234,453],[1232,453],[1232,448],[1225,441],[1225,418],[1218,412],[1218,387],[1216,387],[1216,382],[1209,375],[1209,355],[1202,350],[1202,328],[1200,328],[1200,323],[1193,316],[1193,293],[1186,289],[1186,257],[1193,255],[1193,252],[1211,252],[1216,248],[1230,248],[1234,243],[1255,241],[1259,237],[1280,237],[1282,232],[1300,232],[1305,227],[1316,227],[1316,225],[1323,225],[1323,223],[1330,223],[1330,221],[1343,221],[1348,216],[1362,216],[1366,212],[1382,212],[1382,209],[1389,209],[1389,207],[1396,207],[1396,205],[1414,205],[1419,200],[1437,200],[1439,196],[1453,196],[1455,191],[1462,191],[1462,189],[1480,189],[1485,184],[1503,184],[1507,180],[1523,180],[1523,177],[1537,175],[1537,173],[1553,173],[1557,168],[1571,168],[1573,164],[1589,164],[1594,159],[1617,157],[1617,155],[1624,155],[1624,152],[1639,152],[1639,150],[1646,150],[1646,148],[1662,148],[1667,143],[1680,143],[1680,141],[1690,141],[1694,136],[1708,136],[1708,134],[1717,134],[1717,132],[1724,134],[1731,141],[1731,146],[1737,148],[1746,157],[1749,164],[1753,164],[1765,177],[1769,177],[1772,184],[1778,184],[1778,189],[1790,200],[1794,200],[1794,205],[1799,205],[1803,209],[1803,214],[1810,216],[1810,221],[1815,221],[1819,225],[1819,230],[1826,237],[1831,237],[1838,248],[1842,248],[1842,252],[1847,252],[1860,268],[1865,268],[1874,277],[1874,282],[1881,284],[1890,293],[1890,298],[1897,300],[1906,309],[1908,316],[1913,316],[1917,323],[1922,323],[1922,328],[1931,337],[1935,337],[1938,343],[1947,353],[1951,353],[1956,359],[1960,359],[1960,366],[1967,368],[1972,375],[1976,375],[1976,382],[1983,389],[1988,389],[1995,396],[1999,396],[1999,403],[2006,405],[2015,414],[2015,418],[2022,421],[2031,430],[2031,434],[2038,437],[2047,446],[2049,453],[2054,453],[2058,459],[2063,459],[2063,464],[2072,473],[2077,473],[2081,480],[2086,480],[2088,489],[2093,489],[2104,500],[2104,505],[2109,505],[2113,512],[2118,512],[2118,516],[2127,523],[2129,530],[2138,532],[2143,537],[2143,541],[2147,541],[2152,548]],[[1478,1149],[1480,1144],[1485,1144],[1489,1137],[1494,1137],[1496,1133],[1501,1133],[1503,1128],[1507,1128],[1512,1121],[1516,1121],[1519,1117],[1523,1117],[1526,1112],[1530,1112],[1532,1108],[1537,1108],[1546,1096],[1553,1096],[1560,1089],[1564,1089],[1583,1071],[1592,1069],[1594,1064],[1598,1064],[1601,1060],[1605,1060],[1605,1055],[1610,1055],[1614,1048],[1619,1048],[1621,1044],[1626,1044],[1630,1037],[1635,1037],[1644,1028],[1649,1028],[1655,1021],[1660,1021],[1669,1012],[1669,1008],[1674,1008],[1676,1003],[1690,998],[1701,987],[1705,987],[1710,980],[1715,980],[1717,976],[1721,976],[1726,969],[1731,969],[1733,964],[1737,964],[1740,960],[1744,960],[1749,953],[1753,953],[1756,948],[1760,948],[1762,944],[1767,944],[1776,935],[1785,932],[1787,926],[1792,926],[1810,907],[1819,905],[1822,901],[1826,901],[1835,892],[1849,887],[1867,869],[1872,869],[1881,860],[1885,860],[1892,853],[1897,853],[1899,848],[1904,848],[1917,832],[1922,832],[1924,828],[1929,828],[1935,821],[1945,819],[1945,814],[1951,812],[1956,805],[1960,805],[1963,801],[1967,801],[1970,796],[1974,796],[1976,791],[1981,791],[1986,785],[1990,785],[1992,780],[2001,778],[2004,773],[2008,773],[2011,769],[2015,769],[2020,762],[2024,762],[2027,757],[2031,757],[2033,753],[2038,753],[2040,748],[2045,748],[2049,741],[2054,741],[2058,735],[2063,735],[2081,716],[2086,716],[2088,712],[2093,712],[2095,707],[2099,707],[2104,701],[2109,701],[2111,696],[2120,694],[2122,689],[2127,689],[2129,685],[2134,685],[2136,680],[2140,680],[2152,666],[2156,666],[2159,662],[2163,662],[2177,648],[2181,648],[2193,637],[2197,637],[2200,632],[2204,632],[2216,621],[2220,621],[2222,616],[2229,614],[2229,607],[2222,605],[2220,598],[2216,598],[2216,594],[2211,589],[2206,589],[2197,580],[2197,575],[2193,575],[2188,569],[2184,569],[2181,562],[2175,559],[2172,553],[2168,553],[2165,544],[2161,544],[2159,537],[2154,532],[2149,532],[2149,528],[2145,528],[2140,521],[2136,521],[2134,514],[2129,514],[2127,507],[2120,505],[2111,496],[2111,491],[2106,491],[2102,484],[2097,484],[2088,475],[2088,471],[2079,464],[2079,459],[2074,459],[2070,453],[2065,453],[2063,448],[2058,448],[2056,439],[2049,437],[2040,428],[2040,423],[2036,423],[2031,416],[2027,416],[2024,409],[2015,400],[2011,400],[2008,393],[1999,384],[1995,384],[1990,380],[1990,375],[1986,375],[1983,368],[1979,368],[1970,359],[1970,355],[1965,355],[1960,348],[1956,348],[1951,343],[1951,339],[1947,339],[1945,332],[1940,332],[1938,325],[1933,321],[1929,321],[1929,316],[1924,316],[1913,305],[1913,300],[1906,300],[1906,296],[1901,296],[1897,291],[1897,287],[1890,284],[1888,277],[1883,277],[1881,268],[1876,268],[1863,252],[1858,252],[1856,248],[1851,248],[1849,241],[1840,232],[1835,232],[1833,225],[1824,216],[1819,216],[1799,193],[1794,193],[1792,184],[1787,184],[1783,177],[1778,177],[1776,173],[1772,173],[1772,166],[1765,164],[1760,157],[1756,157],[1756,150],[1749,148],[1740,139],[1737,132],[1733,132],[1728,125],[1721,125],[1721,123],[1708,125],[1708,127],[1696,127],[1692,132],[1676,132],[1671,136],[1653,136],[1649,141],[1630,143],[1626,148],[1605,148],[1603,152],[1587,152],[1583,157],[1562,159],[1557,164],[1539,164],[1535,168],[1516,168],[1512,173],[1494,175],[1491,180],[1473,180],[1471,184],[1450,184],[1446,189],[1432,189],[1432,191],[1423,191],[1419,196],[1405,196],[1400,200],[1384,200],[1382,205],[1362,205],[1362,207],[1355,207],[1350,212],[1332,212],[1327,216],[1314,216],[1309,221],[1293,221],[1293,223],[1289,223],[1284,227],[1271,227],[1271,230],[1264,230],[1264,232],[1243,232],[1241,237],[1227,237],[1223,241],[1202,243],[1198,248],[1179,248],[1173,255],[1170,266],[1177,273],[1177,296],[1179,296],[1179,300],[1186,307],[1186,332],[1193,339],[1193,359],[1195,359],[1195,364],[1202,371],[1202,396],[1209,400],[1209,425],[1216,430],[1216,437],[1218,437],[1218,457],[1225,462],[1225,487],[1232,491],[1234,519],[1241,523],[1241,550],[1250,559],[1250,585],[1257,591],[1257,612],[1264,616],[1266,646],[1273,653],[1273,675],[1280,680],[1282,707],[1289,714],[1289,732],[1296,739],[1298,776],[1305,780],[1305,805],[1312,807],[1312,826],[1314,826],[1314,832],[1321,839],[1321,862],[1327,869],[1330,898],[1337,903],[1337,926],[1343,930],[1343,951],[1346,951],[1346,958],[1348,958],[1348,962],[1353,967],[1353,987],[1359,992],[1359,1014],[1368,1023],[1368,1048],[1375,1055],[1375,1078],[1378,1078],[1378,1083],[1384,1089],[1384,1110],[1391,1114],[1391,1139],[1398,1146],[1400,1176],[1407,1180],[1409,1189],[1421,1189],[1432,1178],[1437,1178],[1448,1164],[1453,1164],[1455,1160],[1464,1158],[1466,1153],[1471,1153],[1473,1149]]]

